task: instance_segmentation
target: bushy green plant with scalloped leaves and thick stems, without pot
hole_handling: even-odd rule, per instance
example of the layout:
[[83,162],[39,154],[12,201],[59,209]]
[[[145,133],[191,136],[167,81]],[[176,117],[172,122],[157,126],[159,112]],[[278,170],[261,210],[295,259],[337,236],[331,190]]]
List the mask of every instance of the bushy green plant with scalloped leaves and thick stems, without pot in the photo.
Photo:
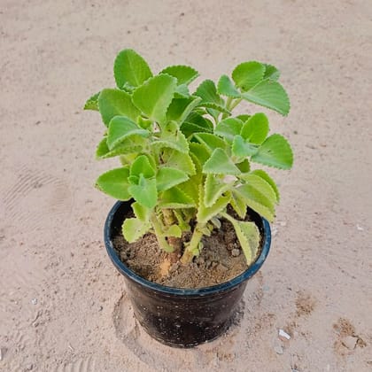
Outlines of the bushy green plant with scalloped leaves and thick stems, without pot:
[[[122,50],[113,66],[117,88],[103,89],[84,109],[99,111],[105,133],[97,159],[119,157],[120,167],[101,174],[97,188],[119,200],[133,199],[134,218],[122,225],[135,242],[147,232],[183,264],[203,249],[202,237],[233,225],[247,264],[255,259],[260,232],[244,221],[247,207],[273,221],[279,192],[273,179],[252,163],[289,169],[287,140],[269,133],[262,112],[233,116],[242,101],[287,115],[290,102],[275,66],[251,61],[222,75],[217,85],[202,81],[190,66],[168,66],[152,74],[135,50]],[[228,205],[239,218],[228,213]],[[182,233],[191,233],[182,242]]]

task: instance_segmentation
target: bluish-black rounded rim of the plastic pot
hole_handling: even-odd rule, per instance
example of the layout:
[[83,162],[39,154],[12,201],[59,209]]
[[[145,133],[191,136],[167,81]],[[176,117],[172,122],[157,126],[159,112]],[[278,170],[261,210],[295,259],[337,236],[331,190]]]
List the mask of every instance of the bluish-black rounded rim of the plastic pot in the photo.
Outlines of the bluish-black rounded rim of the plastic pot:
[[248,280],[260,270],[260,267],[263,265],[263,263],[267,259],[267,254],[270,250],[270,244],[271,244],[271,229],[270,229],[270,224],[268,223],[268,221],[260,216],[260,219],[262,220],[262,225],[263,225],[263,244],[262,244],[262,250],[260,252],[260,256],[242,274],[231,279],[229,282],[216,284],[210,287],[202,287],[202,288],[195,288],[195,289],[167,287],[166,285],[150,282],[144,279],[142,276],[136,275],[136,273],[134,273],[126,265],[124,265],[119,259],[115,250],[113,249],[112,240],[110,238],[112,220],[115,216],[115,213],[120,208],[120,205],[125,204],[125,203],[126,202],[123,202],[123,201],[116,202],[112,206],[112,209],[107,215],[107,218],[105,221],[105,231],[104,231],[106,251],[110,259],[112,260],[113,265],[119,270],[121,275],[128,276],[131,280],[142,285],[143,287],[146,287],[149,290],[159,291],[159,292],[162,292],[168,295],[188,295],[188,296],[213,295],[214,293],[219,293],[221,291],[231,290],[232,288],[236,287],[240,283],[243,283],[244,281]]

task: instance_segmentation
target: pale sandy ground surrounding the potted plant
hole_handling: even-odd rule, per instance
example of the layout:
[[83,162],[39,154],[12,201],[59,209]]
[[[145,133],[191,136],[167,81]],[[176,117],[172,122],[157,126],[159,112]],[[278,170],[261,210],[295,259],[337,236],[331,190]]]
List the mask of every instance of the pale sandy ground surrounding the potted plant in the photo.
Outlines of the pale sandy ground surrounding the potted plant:
[[[372,370],[371,19],[362,0],[1,0],[0,370]],[[291,96],[272,252],[240,327],[193,350],[137,326],[102,243],[111,164],[81,107],[126,47],[205,78],[273,63]]]

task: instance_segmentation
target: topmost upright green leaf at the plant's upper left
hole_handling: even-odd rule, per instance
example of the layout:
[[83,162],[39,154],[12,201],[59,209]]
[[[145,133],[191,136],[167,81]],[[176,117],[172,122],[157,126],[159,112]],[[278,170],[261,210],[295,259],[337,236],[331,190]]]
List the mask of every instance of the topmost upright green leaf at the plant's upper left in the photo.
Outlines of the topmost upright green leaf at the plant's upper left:
[[152,76],[146,61],[131,49],[120,51],[113,65],[113,74],[120,89],[124,85],[138,87]]

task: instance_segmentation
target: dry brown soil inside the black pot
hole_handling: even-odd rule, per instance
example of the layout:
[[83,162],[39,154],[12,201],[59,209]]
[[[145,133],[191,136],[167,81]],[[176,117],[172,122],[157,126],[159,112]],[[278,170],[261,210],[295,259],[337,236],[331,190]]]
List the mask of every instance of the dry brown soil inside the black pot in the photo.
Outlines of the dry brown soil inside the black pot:
[[[190,236],[184,236],[185,241],[188,239]],[[153,234],[146,234],[132,244],[120,235],[113,239],[113,244],[120,260],[137,275],[169,287],[209,287],[228,282],[246,270],[244,253],[229,221],[222,220],[221,229],[214,229],[202,241],[202,252],[189,265],[172,264]]]

